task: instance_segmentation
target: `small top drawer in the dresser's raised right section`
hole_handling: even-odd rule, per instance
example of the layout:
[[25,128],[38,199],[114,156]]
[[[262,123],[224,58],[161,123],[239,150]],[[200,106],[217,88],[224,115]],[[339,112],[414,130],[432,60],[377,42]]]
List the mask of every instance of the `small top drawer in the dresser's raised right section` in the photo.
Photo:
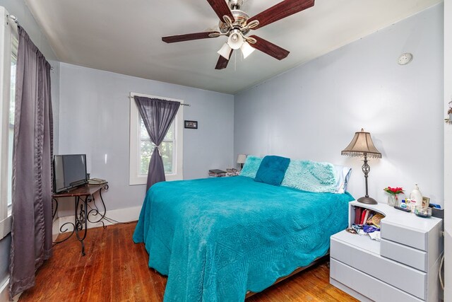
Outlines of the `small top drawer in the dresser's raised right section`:
[[415,228],[407,228],[381,219],[381,238],[408,245],[427,252],[427,232]]

